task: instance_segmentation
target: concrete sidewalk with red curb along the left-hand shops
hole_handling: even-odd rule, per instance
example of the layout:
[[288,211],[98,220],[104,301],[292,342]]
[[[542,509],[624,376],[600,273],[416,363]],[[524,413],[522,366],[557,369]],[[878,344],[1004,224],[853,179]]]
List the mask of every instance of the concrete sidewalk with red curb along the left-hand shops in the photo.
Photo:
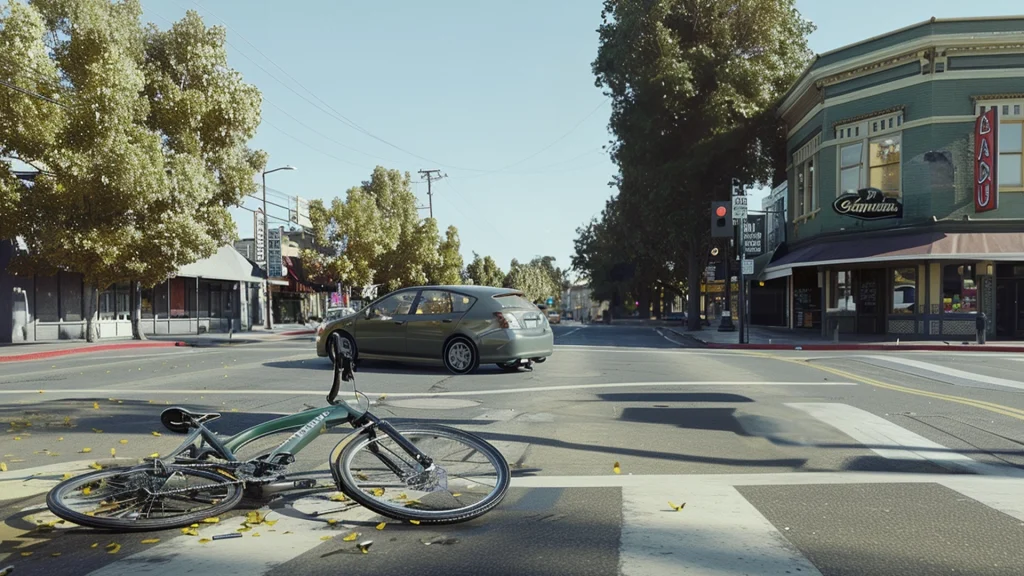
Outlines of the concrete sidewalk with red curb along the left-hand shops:
[[145,340],[106,338],[97,342],[86,342],[85,340],[17,342],[0,345],[0,363],[28,362],[73,354],[98,354],[131,348],[245,344],[311,336],[315,333],[315,325],[282,324],[274,326],[271,330],[259,327],[251,331],[230,334],[146,334],[147,339]]

